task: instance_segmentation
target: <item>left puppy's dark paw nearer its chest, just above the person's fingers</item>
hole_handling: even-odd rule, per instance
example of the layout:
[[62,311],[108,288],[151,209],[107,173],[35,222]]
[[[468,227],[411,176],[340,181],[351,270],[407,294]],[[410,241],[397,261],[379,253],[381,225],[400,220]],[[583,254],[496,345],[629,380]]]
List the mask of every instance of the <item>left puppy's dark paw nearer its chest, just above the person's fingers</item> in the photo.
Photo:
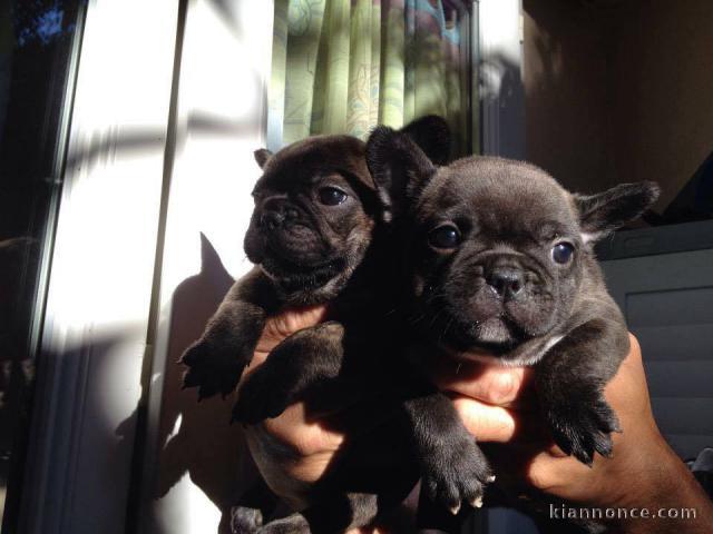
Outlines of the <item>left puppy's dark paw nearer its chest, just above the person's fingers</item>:
[[295,402],[296,384],[293,375],[275,369],[265,362],[237,389],[232,422],[254,425],[277,417]]

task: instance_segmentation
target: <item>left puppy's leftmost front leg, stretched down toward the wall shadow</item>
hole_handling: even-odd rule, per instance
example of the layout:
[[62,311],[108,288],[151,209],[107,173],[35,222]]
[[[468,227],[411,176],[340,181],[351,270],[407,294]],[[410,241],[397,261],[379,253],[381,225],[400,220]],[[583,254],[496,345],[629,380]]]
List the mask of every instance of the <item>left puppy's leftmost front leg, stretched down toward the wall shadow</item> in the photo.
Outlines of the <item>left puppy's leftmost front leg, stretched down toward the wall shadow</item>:
[[184,387],[197,386],[199,399],[235,389],[275,307],[274,290],[262,273],[254,269],[236,281],[201,338],[180,357],[188,366]]

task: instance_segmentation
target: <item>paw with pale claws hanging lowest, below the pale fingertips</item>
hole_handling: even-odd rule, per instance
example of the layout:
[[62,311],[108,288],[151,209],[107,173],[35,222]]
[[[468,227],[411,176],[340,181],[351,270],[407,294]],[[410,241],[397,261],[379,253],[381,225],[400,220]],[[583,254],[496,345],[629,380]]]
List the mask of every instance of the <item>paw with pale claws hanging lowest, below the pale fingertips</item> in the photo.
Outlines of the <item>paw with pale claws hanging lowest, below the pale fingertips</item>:
[[485,485],[494,481],[488,461],[470,436],[443,444],[421,459],[421,485],[428,497],[446,505],[452,514],[460,511],[463,502],[482,506]]

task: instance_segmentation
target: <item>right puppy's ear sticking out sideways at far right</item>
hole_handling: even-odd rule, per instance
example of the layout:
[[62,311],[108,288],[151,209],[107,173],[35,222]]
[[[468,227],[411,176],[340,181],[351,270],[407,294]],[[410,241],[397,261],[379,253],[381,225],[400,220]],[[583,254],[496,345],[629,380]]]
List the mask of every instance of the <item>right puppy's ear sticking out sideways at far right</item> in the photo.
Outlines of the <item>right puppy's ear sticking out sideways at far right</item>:
[[575,195],[583,240],[596,241],[638,218],[656,201],[660,192],[657,184],[637,181],[622,184],[597,195]]

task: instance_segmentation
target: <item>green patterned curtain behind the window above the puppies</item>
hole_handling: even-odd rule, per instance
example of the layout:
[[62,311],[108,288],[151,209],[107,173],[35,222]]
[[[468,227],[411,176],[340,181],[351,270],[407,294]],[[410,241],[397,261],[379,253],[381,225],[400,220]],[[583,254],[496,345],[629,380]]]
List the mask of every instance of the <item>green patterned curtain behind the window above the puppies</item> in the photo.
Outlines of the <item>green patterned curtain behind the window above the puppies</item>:
[[275,0],[268,147],[437,113],[470,151],[458,13],[449,0]]

